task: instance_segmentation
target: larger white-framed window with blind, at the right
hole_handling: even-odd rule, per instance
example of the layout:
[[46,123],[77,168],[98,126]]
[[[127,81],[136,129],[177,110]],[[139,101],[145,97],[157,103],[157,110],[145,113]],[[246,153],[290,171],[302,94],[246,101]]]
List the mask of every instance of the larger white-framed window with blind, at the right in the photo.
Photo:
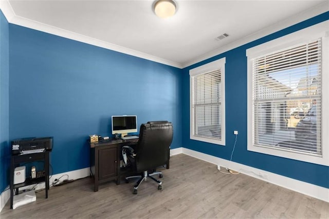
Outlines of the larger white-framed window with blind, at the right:
[[328,82],[327,28],[312,29],[247,50],[248,150],[329,163],[323,135],[328,89],[322,86]]

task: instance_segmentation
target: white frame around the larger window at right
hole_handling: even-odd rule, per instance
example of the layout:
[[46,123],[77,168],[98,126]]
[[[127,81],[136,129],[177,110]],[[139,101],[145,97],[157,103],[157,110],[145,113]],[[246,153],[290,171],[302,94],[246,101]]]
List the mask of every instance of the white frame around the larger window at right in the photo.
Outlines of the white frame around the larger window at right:
[[[247,65],[248,65],[248,76],[247,76],[247,86],[248,86],[248,118],[247,118],[247,150],[253,152],[259,152],[269,155],[275,155],[285,158],[290,158],[293,160],[304,161],[314,164],[320,164],[329,166],[329,137],[325,133],[329,133],[329,86],[326,84],[329,82],[329,21],[313,25],[311,27],[290,33],[288,35],[273,39],[272,41],[266,42],[264,44],[252,47],[246,50]],[[322,52],[322,62],[321,62],[321,148],[322,156],[313,156],[309,154],[298,153],[294,151],[278,150],[275,148],[254,146],[254,133],[252,130],[253,123],[253,113],[252,113],[252,58],[266,55],[271,52],[279,51],[291,46],[295,46],[301,43],[307,43],[316,38],[321,38],[321,52]]]

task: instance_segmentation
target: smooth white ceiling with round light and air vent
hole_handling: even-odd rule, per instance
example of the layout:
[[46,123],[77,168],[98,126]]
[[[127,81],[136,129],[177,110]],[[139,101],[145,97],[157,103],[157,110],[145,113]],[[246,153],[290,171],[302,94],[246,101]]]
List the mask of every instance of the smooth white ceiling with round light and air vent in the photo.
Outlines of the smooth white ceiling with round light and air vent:
[[[200,61],[207,54],[313,8],[324,7],[327,11],[329,5],[328,1],[316,0],[175,2],[176,14],[163,19],[154,14],[151,0],[9,0],[16,20],[92,37],[122,50],[159,58],[165,61],[162,63],[174,63],[173,66]],[[223,33],[229,37],[215,41]]]

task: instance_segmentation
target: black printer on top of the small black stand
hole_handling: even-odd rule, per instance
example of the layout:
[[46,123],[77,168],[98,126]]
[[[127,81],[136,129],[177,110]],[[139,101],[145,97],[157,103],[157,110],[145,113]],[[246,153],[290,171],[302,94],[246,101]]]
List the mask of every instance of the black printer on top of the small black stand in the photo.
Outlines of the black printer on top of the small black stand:
[[21,154],[52,150],[53,137],[28,137],[11,141],[11,153]]

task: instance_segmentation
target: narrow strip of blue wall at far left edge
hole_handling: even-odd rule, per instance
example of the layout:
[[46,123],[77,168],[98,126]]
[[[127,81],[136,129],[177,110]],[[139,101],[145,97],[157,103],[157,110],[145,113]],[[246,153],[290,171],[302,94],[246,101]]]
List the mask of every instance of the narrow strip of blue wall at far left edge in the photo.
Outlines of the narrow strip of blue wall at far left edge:
[[0,194],[9,182],[9,25],[0,10]]

